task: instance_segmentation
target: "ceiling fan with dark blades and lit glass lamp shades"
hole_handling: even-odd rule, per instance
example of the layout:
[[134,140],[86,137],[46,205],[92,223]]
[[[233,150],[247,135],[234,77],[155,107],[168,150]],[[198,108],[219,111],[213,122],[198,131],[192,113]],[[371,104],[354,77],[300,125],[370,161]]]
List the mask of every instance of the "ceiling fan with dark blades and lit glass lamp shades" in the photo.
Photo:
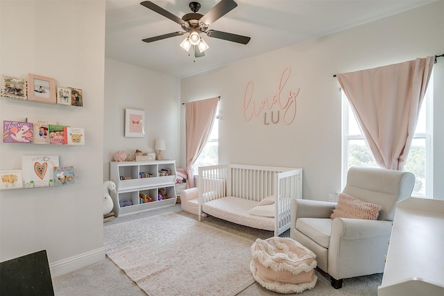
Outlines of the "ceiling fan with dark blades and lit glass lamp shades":
[[187,13],[182,18],[176,17],[176,15],[173,15],[171,12],[164,10],[164,8],[157,6],[155,3],[151,1],[143,1],[140,4],[142,4],[142,6],[145,6],[148,9],[153,10],[154,12],[157,12],[160,15],[163,15],[164,17],[171,19],[172,21],[176,21],[176,23],[182,26],[183,30],[164,35],[158,35],[155,37],[145,38],[142,40],[144,42],[154,42],[157,40],[162,40],[169,37],[175,37],[175,36],[184,35],[185,33],[189,33],[189,35],[185,38],[185,40],[182,41],[180,46],[182,47],[182,49],[185,49],[186,51],[189,51],[191,46],[193,46],[194,56],[196,58],[200,58],[203,55],[205,55],[204,51],[206,51],[209,47],[207,43],[202,39],[202,37],[200,37],[200,33],[205,33],[207,34],[208,37],[228,40],[240,44],[247,44],[251,39],[250,37],[242,35],[208,29],[210,25],[214,23],[214,21],[223,17],[223,15],[226,15],[228,12],[236,8],[237,3],[234,2],[233,0],[221,0],[205,15],[201,15],[200,13],[198,13],[198,10],[200,9],[200,3],[190,2],[189,8],[191,9],[192,12]]

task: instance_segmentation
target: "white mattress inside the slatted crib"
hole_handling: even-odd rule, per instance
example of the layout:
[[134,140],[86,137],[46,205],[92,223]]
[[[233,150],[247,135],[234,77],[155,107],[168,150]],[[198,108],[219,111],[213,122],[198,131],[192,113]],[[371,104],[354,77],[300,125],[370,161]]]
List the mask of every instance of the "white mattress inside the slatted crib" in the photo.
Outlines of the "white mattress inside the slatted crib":
[[202,204],[202,211],[210,216],[239,225],[274,231],[275,218],[248,214],[248,211],[256,207],[257,203],[253,200],[226,196],[225,198],[205,202]]

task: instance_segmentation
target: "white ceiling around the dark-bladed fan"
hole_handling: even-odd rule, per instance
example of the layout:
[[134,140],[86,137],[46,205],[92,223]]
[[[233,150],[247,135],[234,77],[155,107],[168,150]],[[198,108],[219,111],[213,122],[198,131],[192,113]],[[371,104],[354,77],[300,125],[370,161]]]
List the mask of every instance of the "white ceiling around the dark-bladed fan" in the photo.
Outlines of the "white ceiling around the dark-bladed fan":
[[[179,44],[184,36],[146,43],[142,39],[176,31],[179,24],[140,5],[142,0],[106,0],[105,57],[178,78],[365,24],[436,0],[235,0],[234,8],[210,29],[251,37],[237,44],[207,37],[210,46],[194,58]],[[188,0],[153,0],[173,15],[191,12]],[[205,15],[219,0],[198,0]]]

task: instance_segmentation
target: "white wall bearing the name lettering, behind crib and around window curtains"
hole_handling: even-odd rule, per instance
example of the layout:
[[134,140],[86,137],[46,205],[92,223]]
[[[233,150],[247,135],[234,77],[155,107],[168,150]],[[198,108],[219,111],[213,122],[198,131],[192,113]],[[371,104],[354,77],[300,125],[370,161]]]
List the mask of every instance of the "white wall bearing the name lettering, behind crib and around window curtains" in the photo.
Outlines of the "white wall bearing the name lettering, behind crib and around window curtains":
[[[181,80],[181,101],[221,96],[221,163],[303,168],[304,198],[327,200],[329,193],[341,191],[341,96],[339,83],[333,74],[444,53],[443,12],[444,2],[438,1],[400,15],[184,78]],[[441,58],[436,64],[436,71],[442,73],[443,64]],[[291,74],[282,89],[282,102],[287,99],[289,92],[300,89],[293,123],[282,123],[282,110],[280,122],[270,123],[271,111],[278,111],[276,105],[267,112],[269,125],[264,124],[264,112],[245,121],[243,98],[248,82],[254,82],[253,100],[257,105],[264,99],[271,102],[277,92],[280,75],[286,67],[291,68]],[[196,81],[205,83],[194,87]],[[441,82],[436,81],[436,85],[443,85]],[[441,87],[440,98],[443,96]],[[436,103],[435,114],[443,112],[443,104]],[[435,128],[436,140],[441,147],[442,126]],[[181,147],[185,147],[183,135]],[[180,156],[183,165],[184,149]],[[443,159],[440,155],[436,157],[441,162],[434,164],[435,172],[442,173]],[[435,174],[435,184],[439,182],[438,174]],[[442,186],[440,192],[435,191],[434,197],[440,196],[444,196]]]

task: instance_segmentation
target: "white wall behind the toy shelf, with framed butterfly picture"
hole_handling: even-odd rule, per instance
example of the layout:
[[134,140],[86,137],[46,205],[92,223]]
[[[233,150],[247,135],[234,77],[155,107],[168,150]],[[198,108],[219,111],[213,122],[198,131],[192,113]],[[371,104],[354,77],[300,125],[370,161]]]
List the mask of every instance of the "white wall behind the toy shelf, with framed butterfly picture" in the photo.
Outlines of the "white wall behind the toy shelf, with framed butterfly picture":
[[[165,140],[164,159],[178,159],[180,106],[178,78],[106,58],[103,180],[110,179],[114,153],[154,153],[156,139]],[[145,110],[144,138],[124,137],[126,108]]]

